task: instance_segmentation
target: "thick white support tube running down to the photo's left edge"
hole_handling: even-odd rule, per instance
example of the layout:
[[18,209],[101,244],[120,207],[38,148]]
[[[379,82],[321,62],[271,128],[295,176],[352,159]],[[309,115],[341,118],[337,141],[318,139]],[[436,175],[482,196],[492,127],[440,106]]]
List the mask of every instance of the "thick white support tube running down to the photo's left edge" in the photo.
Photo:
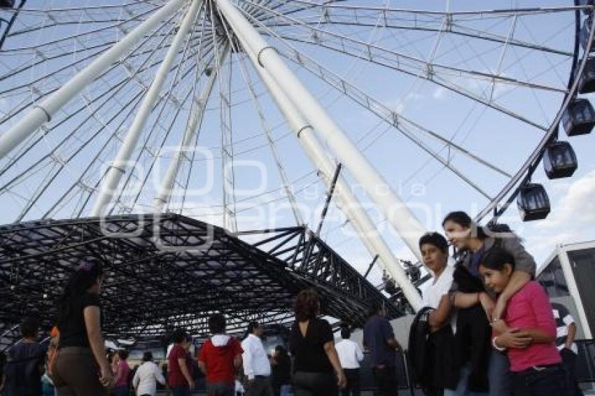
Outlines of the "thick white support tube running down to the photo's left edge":
[[76,94],[82,92],[97,76],[106,71],[113,62],[116,62],[127,50],[130,50],[148,31],[157,27],[169,15],[179,10],[185,1],[170,0],[146,21],[130,31],[122,40],[113,45],[112,48],[91,62],[85,69],[78,72],[76,76],[62,85],[59,90],[36,104],[12,128],[0,135],[0,159],[8,155],[10,151],[27,139],[27,136],[34,133],[41,125],[49,122],[52,115],[71,101]]

